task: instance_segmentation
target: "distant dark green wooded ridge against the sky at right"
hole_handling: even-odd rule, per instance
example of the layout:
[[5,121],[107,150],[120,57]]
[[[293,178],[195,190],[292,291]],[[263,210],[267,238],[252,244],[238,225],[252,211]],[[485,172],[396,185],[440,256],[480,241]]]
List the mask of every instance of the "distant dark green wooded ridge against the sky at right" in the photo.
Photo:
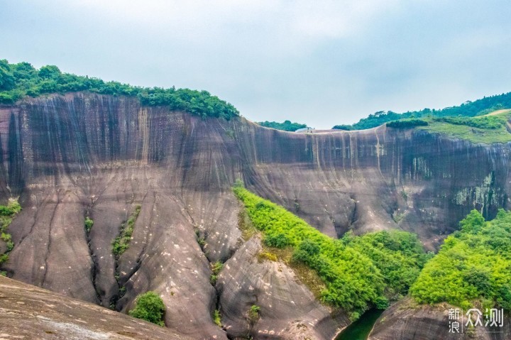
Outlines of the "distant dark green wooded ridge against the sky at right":
[[498,94],[491,97],[484,97],[474,102],[464,102],[460,106],[446,107],[445,109],[422,109],[421,111],[407,111],[398,114],[392,111],[378,111],[370,114],[367,118],[363,118],[358,123],[352,125],[336,125],[333,128],[339,130],[363,130],[366,128],[374,128],[388,121],[396,121],[399,119],[421,118],[421,117],[446,117],[446,116],[481,116],[498,109],[511,109],[511,92]]

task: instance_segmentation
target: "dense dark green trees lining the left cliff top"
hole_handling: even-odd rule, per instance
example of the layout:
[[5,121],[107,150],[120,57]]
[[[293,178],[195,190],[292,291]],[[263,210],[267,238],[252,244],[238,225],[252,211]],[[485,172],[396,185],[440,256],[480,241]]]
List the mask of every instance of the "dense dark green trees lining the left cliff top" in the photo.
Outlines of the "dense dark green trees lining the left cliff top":
[[158,87],[133,87],[120,82],[104,82],[101,79],[62,73],[54,65],[36,70],[28,62],[9,64],[0,60],[0,103],[12,104],[25,96],[41,94],[90,91],[99,94],[138,97],[149,106],[169,106],[172,110],[187,111],[202,117],[231,119],[239,112],[231,104],[207,91],[192,89],[162,89]]

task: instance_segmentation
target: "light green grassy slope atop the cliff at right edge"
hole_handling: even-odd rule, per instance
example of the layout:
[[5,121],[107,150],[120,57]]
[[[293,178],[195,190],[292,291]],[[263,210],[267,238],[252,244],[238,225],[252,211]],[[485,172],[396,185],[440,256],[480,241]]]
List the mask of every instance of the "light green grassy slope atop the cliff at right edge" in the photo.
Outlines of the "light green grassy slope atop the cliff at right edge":
[[472,143],[507,143],[511,141],[511,133],[507,131],[507,119],[511,110],[500,111],[498,114],[487,114],[472,118],[444,117],[429,118],[427,126],[417,127],[420,130],[441,133],[451,138],[460,138]]

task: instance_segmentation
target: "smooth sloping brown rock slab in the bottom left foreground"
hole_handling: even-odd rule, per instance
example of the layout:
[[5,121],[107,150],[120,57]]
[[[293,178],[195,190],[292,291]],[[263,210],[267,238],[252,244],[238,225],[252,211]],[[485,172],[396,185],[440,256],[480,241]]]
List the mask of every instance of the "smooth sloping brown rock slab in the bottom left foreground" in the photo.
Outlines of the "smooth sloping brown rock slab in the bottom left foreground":
[[165,327],[3,276],[0,339],[192,340]]

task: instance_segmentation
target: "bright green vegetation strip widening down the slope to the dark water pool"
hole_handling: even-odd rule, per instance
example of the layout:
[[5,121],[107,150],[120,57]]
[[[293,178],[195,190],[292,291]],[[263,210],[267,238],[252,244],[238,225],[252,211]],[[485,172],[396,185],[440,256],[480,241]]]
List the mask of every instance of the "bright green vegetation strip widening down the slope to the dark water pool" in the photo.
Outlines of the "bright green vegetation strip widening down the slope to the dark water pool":
[[417,236],[404,231],[348,233],[336,240],[241,185],[233,191],[264,243],[275,247],[277,255],[279,249],[291,249],[294,263],[306,265],[321,278],[320,299],[351,312],[352,319],[405,295],[428,259]]

